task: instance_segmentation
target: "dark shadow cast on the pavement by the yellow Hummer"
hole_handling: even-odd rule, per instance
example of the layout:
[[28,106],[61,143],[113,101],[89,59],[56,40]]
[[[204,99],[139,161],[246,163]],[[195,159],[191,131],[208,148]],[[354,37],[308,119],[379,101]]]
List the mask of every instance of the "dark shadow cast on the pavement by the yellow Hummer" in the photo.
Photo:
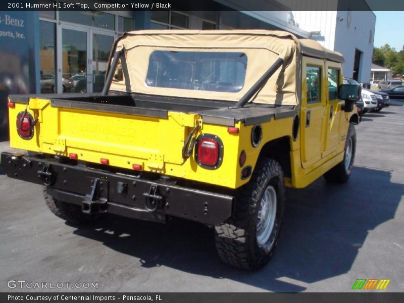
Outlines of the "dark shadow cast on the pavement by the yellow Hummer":
[[146,268],[166,266],[270,291],[299,292],[307,283],[349,271],[368,232],[394,217],[404,185],[390,177],[390,171],[355,167],[344,185],[321,178],[305,189],[288,189],[278,247],[271,262],[255,272],[221,263],[213,229],[189,221],[163,225],[108,216],[74,233],[133,256],[133,262],[140,259]]

